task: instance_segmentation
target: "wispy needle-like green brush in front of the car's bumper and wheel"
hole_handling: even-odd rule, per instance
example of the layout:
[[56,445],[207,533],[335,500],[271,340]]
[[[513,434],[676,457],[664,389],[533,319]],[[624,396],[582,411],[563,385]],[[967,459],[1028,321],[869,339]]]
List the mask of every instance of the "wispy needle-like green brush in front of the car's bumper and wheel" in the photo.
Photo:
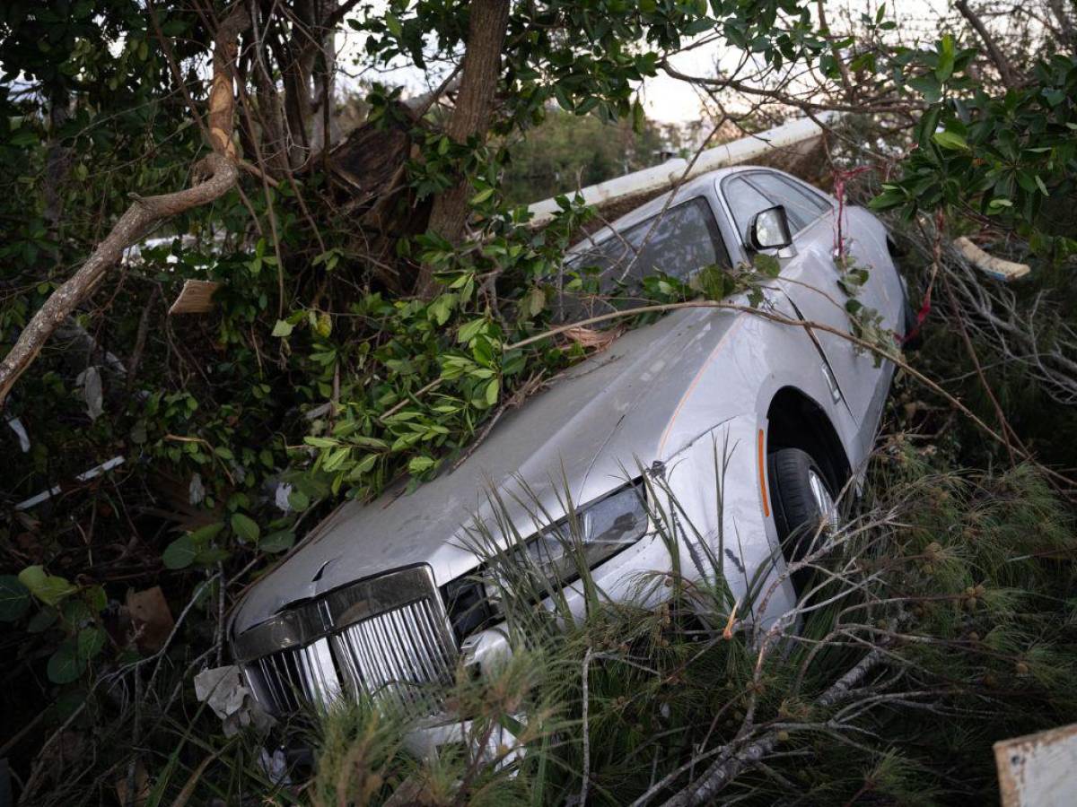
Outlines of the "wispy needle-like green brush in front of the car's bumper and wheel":
[[[323,716],[314,803],[988,798],[992,741],[1077,716],[1073,522],[1032,469],[939,472],[907,445],[884,453],[855,511],[803,560],[810,582],[777,626],[730,619],[753,603],[735,604],[715,537],[701,548],[662,479],[641,476],[669,568],[611,601],[579,564],[575,613],[512,560],[534,524],[513,523],[509,504],[535,524],[550,513],[526,485],[514,502],[491,492],[494,519],[472,536],[513,655],[484,677],[461,670],[457,728],[436,753],[408,754],[414,722],[369,704]],[[562,496],[561,537],[582,557]],[[759,577],[749,598],[769,593]]]

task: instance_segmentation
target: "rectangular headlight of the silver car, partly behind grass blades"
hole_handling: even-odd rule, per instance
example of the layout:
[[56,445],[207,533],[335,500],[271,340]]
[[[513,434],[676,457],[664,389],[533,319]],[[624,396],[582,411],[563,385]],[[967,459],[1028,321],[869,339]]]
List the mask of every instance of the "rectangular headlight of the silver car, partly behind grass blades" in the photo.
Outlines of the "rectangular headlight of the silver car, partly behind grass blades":
[[540,590],[567,585],[579,577],[582,567],[595,568],[646,532],[644,485],[637,481],[576,508],[574,520],[565,516],[522,543],[498,551],[444,589],[458,640],[498,618],[501,594],[516,590],[521,578],[542,581]]

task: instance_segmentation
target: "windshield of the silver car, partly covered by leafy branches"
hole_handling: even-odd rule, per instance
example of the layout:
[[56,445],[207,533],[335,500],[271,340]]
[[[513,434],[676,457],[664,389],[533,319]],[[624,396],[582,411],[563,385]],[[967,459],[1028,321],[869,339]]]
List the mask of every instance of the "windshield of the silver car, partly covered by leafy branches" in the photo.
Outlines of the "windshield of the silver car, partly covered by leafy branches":
[[575,322],[645,305],[645,278],[687,281],[714,264],[730,265],[717,222],[707,199],[689,199],[624,231],[589,237],[558,278],[555,316]]

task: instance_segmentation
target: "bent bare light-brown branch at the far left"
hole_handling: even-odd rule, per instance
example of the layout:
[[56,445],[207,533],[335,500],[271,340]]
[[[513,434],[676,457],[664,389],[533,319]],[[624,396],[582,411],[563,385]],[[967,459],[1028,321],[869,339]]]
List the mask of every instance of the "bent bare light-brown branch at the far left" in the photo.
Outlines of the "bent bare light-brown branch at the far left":
[[209,95],[209,139],[213,154],[194,167],[195,184],[172,194],[136,197],[135,203],[120,217],[86,263],[45,300],[19,334],[11,352],[0,362],[0,410],[12,386],[38,357],[48,338],[94,293],[109,269],[118,263],[124,250],[144,238],[160,222],[219,199],[235,185],[238,170],[236,146],[232,141],[235,112],[233,71],[237,39],[248,24],[247,12],[236,4],[218,29]]

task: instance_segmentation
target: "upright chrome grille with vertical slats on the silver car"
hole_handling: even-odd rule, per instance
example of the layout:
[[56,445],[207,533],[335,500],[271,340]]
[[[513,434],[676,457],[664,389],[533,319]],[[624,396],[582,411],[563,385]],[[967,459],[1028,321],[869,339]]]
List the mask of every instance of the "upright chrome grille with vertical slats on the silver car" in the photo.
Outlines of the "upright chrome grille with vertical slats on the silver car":
[[428,567],[330,592],[238,636],[255,697],[277,714],[342,691],[436,709],[457,647]]

